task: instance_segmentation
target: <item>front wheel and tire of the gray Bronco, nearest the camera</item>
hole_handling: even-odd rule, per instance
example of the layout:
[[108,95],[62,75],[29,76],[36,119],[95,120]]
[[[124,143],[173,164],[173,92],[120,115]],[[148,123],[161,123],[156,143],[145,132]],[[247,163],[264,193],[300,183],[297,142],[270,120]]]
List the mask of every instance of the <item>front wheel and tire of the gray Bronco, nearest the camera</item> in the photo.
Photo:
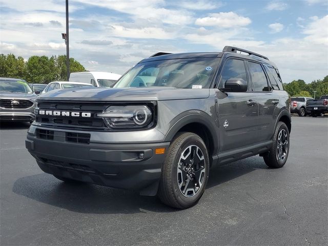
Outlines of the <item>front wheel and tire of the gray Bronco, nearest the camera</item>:
[[209,168],[204,141],[194,133],[180,133],[172,141],[162,166],[159,199],[177,209],[194,206],[204,193]]

